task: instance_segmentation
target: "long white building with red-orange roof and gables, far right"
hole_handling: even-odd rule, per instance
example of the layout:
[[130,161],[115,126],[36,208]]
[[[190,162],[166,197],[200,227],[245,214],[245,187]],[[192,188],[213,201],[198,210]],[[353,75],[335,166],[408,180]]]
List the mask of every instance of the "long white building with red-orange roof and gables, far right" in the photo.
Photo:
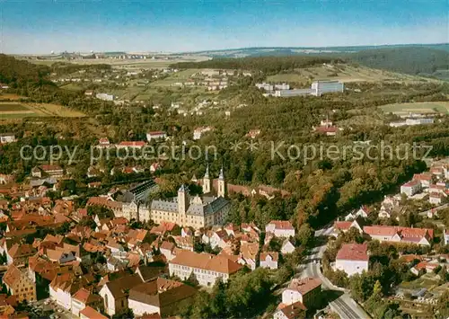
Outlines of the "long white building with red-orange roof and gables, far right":
[[365,226],[364,233],[380,242],[420,244],[430,246],[434,230],[427,228],[409,228],[400,226]]

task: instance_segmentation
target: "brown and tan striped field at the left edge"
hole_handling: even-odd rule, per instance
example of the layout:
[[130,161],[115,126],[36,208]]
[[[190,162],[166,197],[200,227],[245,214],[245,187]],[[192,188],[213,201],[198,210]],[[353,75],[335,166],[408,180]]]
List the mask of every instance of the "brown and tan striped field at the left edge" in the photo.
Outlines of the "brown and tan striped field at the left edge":
[[0,102],[0,120],[30,117],[84,117],[84,113],[69,110],[61,105],[46,103]]

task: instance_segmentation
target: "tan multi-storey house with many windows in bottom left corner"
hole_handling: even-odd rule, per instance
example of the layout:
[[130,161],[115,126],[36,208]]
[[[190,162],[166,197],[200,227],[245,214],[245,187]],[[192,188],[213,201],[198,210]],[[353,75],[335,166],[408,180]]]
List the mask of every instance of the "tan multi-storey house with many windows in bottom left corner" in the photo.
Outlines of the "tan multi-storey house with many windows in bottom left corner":
[[16,265],[11,264],[2,280],[8,292],[15,296],[18,302],[37,300],[36,285],[26,269],[19,269]]

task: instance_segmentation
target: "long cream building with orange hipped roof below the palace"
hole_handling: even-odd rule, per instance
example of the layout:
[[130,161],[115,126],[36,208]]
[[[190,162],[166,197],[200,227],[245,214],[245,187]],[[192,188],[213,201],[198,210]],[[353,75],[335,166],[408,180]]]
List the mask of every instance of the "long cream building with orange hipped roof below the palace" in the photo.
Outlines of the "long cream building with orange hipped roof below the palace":
[[185,280],[189,279],[193,273],[199,285],[207,287],[214,286],[218,278],[222,278],[226,282],[233,273],[241,269],[241,264],[231,261],[225,256],[209,253],[180,251],[172,261],[169,261],[171,276],[178,276]]

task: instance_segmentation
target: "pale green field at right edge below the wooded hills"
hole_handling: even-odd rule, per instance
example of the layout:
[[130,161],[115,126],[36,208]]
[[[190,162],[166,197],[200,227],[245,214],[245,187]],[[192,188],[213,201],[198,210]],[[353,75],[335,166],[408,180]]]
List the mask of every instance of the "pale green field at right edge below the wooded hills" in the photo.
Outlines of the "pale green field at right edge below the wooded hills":
[[380,107],[386,113],[407,115],[409,113],[449,113],[449,102],[394,103]]

